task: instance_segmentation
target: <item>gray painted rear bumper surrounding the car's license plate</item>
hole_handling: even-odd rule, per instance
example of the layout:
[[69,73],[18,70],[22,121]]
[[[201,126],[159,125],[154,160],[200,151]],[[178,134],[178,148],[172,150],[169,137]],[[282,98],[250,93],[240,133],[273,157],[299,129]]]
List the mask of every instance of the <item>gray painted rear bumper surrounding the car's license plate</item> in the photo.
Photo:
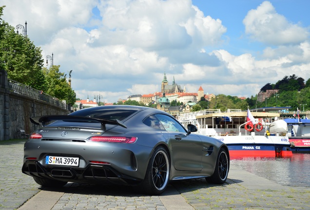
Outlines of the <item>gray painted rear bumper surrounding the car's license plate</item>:
[[[152,147],[136,144],[27,140],[24,145],[23,162],[28,164],[38,161],[47,172],[52,167],[69,168],[76,171],[77,175],[82,175],[83,171],[87,172],[87,170],[91,170],[88,168],[92,167],[94,170],[97,168],[111,170],[117,177],[129,176],[144,179],[148,164],[146,160],[149,159],[152,149]],[[47,165],[45,163],[46,156],[78,157],[79,164],[77,167]],[[103,165],[94,162],[106,162],[108,164]]]

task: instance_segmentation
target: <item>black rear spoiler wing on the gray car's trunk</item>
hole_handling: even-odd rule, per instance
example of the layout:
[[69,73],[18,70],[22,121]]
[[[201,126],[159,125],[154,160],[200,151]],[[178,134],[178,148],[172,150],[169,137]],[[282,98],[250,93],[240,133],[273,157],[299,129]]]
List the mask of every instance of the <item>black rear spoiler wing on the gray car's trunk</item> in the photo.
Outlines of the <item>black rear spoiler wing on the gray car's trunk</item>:
[[40,116],[40,117],[30,117],[30,122],[34,123],[36,125],[42,124],[42,126],[45,126],[46,123],[51,121],[73,121],[73,122],[80,122],[80,123],[101,123],[101,129],[105,130],[105,124],[114,124],[114,125],[120,125],[124,128],[127,128],[127,126],[122,123],[121,121],[115,119],[115,120],[108,120],[103,118],[93,118],[93,117],[82,117],[82,116],[71,116],[71,115],[47,115],[47,116]]

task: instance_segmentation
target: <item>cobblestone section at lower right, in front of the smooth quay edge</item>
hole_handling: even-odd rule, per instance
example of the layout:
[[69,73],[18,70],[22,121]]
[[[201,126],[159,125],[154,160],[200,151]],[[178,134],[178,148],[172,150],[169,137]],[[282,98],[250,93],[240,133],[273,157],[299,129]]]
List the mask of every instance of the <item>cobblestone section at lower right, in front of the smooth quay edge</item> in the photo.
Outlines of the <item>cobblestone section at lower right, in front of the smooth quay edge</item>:
[[195,210],[310,209],[309,188],[252,189],[232,179],[222,186],[203,187],[204,183],[202,179],[187,180],[175,183],[174,187]]

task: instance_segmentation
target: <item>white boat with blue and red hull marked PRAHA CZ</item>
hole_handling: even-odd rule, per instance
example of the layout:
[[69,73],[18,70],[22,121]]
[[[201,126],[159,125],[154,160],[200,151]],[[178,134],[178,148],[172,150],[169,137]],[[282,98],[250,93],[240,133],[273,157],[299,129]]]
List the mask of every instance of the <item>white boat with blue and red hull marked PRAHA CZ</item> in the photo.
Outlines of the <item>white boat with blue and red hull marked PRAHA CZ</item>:
[[184,113],[177,119],[184,126],[195,124],[198,134],[214,137],[227,144],[231,158],[291,157],[287,123],[279,113],[250,112],[255,120],[247,121],[248,112],[240,109],[205,109]]

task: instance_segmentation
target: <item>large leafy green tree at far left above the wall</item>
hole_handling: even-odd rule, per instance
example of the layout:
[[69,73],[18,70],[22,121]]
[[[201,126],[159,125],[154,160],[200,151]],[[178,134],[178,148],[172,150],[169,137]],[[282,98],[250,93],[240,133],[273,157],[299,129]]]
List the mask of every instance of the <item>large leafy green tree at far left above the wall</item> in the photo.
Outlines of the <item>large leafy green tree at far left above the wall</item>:
[[[4,6],[0,7],[0,17]],[[0,18],[0,68],[8,78],[35,89],[44,89],[43,59],[28,37],[16,34],[14,27]]]

